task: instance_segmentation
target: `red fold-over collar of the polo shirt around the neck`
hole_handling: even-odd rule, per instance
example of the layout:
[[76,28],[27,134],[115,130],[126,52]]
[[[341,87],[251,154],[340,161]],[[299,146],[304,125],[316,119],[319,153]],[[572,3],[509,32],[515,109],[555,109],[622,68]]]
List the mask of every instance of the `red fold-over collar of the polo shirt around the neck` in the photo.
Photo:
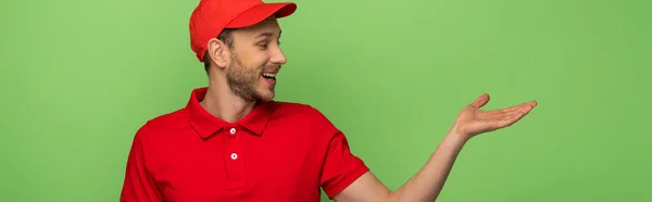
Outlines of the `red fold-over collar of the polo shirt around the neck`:
[[186,114],[192,128],[202,137],[209,138],[224,127],[239,125],[252,134],[262,136],[267,122],[274,111],[274,101],[258,103],[253,110],[236,123],[229,124],[224,119],[213,116],[199,103],[206,94],[206,87],[192,90]]

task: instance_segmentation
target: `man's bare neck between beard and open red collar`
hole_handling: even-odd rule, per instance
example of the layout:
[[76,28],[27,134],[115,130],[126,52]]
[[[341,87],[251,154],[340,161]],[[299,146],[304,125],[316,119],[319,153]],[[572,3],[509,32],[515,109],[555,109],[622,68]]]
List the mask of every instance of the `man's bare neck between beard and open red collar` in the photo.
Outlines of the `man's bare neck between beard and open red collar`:
[[238,119],[249,114],[255,102],[246,101],[233,93],[227,84],[209,84],[206,96],[201,105],[215,117],[228,123],[238,122]]

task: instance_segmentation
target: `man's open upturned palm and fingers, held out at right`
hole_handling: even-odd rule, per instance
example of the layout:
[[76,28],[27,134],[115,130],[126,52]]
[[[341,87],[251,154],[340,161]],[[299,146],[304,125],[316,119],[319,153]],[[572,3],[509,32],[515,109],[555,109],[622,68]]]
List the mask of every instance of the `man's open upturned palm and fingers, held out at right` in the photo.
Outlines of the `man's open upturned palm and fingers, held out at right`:
[[480,108],[487,102],[489,102],[489,94],[484,93],[462,109],[451,132],[468,139],[482,132],[507,127],[518,122],[537,105],[536,101],[529,101],[500,110],[481,110]]

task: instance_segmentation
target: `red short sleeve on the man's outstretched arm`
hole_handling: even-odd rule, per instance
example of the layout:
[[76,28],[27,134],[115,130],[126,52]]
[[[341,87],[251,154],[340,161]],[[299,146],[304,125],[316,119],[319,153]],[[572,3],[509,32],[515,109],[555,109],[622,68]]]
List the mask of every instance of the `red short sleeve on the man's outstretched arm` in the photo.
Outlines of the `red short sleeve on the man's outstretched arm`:
[[313,130],[319,135],[321,144],[326,148],[319,184],[328,198],[333,199],[369,168],[351,152],[341,130],[317,110],[313,109]]

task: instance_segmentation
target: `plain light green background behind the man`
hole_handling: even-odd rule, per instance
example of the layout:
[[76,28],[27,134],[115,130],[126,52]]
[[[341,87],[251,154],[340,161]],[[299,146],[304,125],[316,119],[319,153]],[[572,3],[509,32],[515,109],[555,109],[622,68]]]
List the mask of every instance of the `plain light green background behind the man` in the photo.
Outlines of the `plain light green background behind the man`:
[[[197,2],[1,2],[0,201],[117,201],[137,128],[208,84]],[[539,106],[468,142],[439,201],[652,201],[650,1],[296,2],[277,100],[324,112],[389,188],[488,92]]]

